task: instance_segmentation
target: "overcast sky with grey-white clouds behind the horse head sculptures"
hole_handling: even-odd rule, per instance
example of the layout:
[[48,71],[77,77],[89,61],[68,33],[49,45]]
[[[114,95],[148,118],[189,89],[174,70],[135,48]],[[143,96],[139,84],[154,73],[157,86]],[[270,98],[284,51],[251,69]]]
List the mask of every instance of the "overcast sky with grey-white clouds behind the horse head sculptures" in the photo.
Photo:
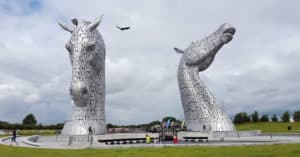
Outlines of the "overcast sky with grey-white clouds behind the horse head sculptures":
[[[106,45],[106,118],[183,118],[177,85],[185,49],[228,22],[236,35],[200,77],[230,115],[300,109],[300,2],[0,0],[0,121],[64,122],[72,112],[70,33],[57,20],[94,20]],[[119,31],[115,25],[132,26]]]

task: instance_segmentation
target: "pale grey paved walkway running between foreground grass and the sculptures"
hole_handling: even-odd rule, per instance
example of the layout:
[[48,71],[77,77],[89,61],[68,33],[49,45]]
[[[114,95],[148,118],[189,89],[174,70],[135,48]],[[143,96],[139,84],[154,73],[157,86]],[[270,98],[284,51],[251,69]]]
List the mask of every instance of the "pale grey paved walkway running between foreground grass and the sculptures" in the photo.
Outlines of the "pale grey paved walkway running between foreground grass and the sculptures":
[[[52,148],[52,149],[83,149],[83,148],[131,148],[131,147],[185,147],[185,146],[241,146],[241,145],[270,145],[270,144],[287,144],[300,143],[300,135],[278,135],[278,136],[247,136],[247,137],[225,137],[224,141],[208,141],[208,142],[185,142],[179,141],[178,144],[172,142],[151,143],[151,144],[117,144],[106,145],[99,142],[94,142],[92,145],[89,142],[74,142],[70,146],[68,142],[43,142],[28,143],[28,137],[18,137],[17,142],[19,147],[32,148]],[[0,139],[0,144],[10,145],[10,138]],[[14,144],[14,146],[16,146]]]

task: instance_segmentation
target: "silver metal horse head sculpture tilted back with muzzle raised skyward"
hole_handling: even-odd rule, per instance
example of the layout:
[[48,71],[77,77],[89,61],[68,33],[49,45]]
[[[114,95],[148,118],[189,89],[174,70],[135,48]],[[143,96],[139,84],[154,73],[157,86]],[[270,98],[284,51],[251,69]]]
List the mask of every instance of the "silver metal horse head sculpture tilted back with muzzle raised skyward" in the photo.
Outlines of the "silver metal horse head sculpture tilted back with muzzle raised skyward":
[[189,131],[234,131],[235,128],[219,108],[215,98],[199,77],[214,60],[218,50],[230,42],[235,28],[223,24],[206,38],[192,42],[182,53],[177,77],[183,106],[185,124]]

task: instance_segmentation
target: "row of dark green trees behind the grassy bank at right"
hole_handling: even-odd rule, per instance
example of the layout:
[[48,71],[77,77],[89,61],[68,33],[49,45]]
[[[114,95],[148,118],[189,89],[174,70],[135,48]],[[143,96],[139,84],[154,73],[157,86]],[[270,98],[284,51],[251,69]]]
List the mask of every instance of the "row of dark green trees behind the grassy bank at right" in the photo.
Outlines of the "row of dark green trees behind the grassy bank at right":
[[[248,122],[290,122],[291,115],[288,111],[285,111],[280,116],[281,119],[277,117],[276,114],[273,114],[269,117],[268,114],[262,114],[261,116],[258,114],[257,111],[254,111],[251,114],[247,114],[246,112],[239,112],[235,114],[233,118],[233,123],[241,124],[241,123],[248,123]],[[300,110],[297,110],[293,114],[293,119],[295,122],[300,121]]]

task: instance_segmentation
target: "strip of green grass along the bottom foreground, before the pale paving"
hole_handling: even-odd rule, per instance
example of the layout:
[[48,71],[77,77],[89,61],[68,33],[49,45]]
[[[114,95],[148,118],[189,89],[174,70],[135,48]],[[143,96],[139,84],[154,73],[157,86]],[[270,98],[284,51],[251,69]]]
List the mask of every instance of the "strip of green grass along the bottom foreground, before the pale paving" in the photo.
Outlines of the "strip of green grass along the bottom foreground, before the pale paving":
[[300,144],[131,149],[35,149],[0,145],[0,157],[300,157]]

